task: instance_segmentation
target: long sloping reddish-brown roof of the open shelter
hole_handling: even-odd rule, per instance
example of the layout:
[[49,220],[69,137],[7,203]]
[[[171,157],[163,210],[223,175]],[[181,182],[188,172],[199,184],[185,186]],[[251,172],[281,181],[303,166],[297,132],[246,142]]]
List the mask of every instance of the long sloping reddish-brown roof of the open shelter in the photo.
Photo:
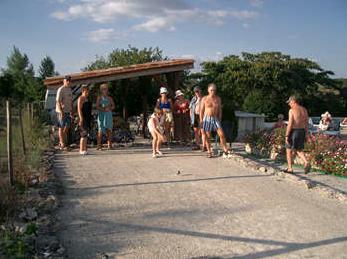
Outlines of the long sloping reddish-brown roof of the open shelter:
[[[96,83],[131,78],[137,76],[155,75],[182,71],[194,67],[193,59],[174,59],[136,64],[124,67],[112,67],[93,71],[68,74],[72,78],[73,84]],[[60,86],[66,75],[49,77],[44,81],[47,87]]]

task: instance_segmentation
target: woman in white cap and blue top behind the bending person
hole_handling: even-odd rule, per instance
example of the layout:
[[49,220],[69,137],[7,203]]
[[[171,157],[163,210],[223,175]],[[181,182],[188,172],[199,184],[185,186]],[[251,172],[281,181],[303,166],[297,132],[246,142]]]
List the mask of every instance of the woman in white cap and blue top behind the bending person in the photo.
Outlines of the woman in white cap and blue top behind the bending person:
[[160,123],[164,127],[165,139],[169,141],[171,132],[173,131],[173,103],[168,97],[168,90],[166,87],[160,87],[160,98],[157,100],[155,107],[163,112]]

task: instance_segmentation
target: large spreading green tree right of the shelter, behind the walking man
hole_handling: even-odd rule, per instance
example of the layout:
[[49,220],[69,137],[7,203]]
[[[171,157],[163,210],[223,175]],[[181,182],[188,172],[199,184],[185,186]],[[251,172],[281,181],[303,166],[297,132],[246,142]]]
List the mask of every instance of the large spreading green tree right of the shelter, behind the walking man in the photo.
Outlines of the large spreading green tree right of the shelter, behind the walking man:
[[336,80],[330,78],[331,71],[311,60],[291,58],[281,52],[245,52],[202,66],[201,84],[215,82],[226,105],[264,113],[270,119],[287,113],[285,101],[291,94],[301,96],[309,113],[315,114],[317,107],[311,101],[319,93],[319,86],[338,87]]

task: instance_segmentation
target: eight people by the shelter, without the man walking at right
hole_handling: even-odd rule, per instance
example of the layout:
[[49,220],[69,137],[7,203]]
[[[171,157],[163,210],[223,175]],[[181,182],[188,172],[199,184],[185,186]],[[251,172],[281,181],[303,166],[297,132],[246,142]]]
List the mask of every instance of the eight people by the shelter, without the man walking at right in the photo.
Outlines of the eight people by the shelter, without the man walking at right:
[[[59,148],[67,150],[66,138],[72,125],[73,97],[70,88],[71,77],[66,76],[63,85],[58,89],[56,96],[56,114],[59,136]],[[181,90],[175,92],[175,101],[168,97],[166,87],[160,88],[160,98],[155,105],[155,110],[148,120],[148,129],[153,138],[153,157],[162,155],[161,143],[173,137],[174,140],[188,144],[191,141],[191,126],[194,129],[195,142],[193,149],[207,151],[212,157],[210,144],[211,132],[215,131],[220,137],[223,156],[227,157],[230,151],[227,148],[224,132],[221,126],[222,105],[221,99],[216,95],[216,86],[208,86],[208,95],[203,96],[199,87],[194,88],[194,97],[189,102],[184,98]],[[93,104],[89,101],[89,87],[81,87],[81,95],[77,100],[77,115],[80,132],[80,154],[86,155],[87,138],[92,124]],[[100,94],[96,100],[97,115],[97,150],[102,149],[102,137],[106,136],[107,148],[112,149],[112,111],[115,103],[109,95],[108,85],[100,86]]]

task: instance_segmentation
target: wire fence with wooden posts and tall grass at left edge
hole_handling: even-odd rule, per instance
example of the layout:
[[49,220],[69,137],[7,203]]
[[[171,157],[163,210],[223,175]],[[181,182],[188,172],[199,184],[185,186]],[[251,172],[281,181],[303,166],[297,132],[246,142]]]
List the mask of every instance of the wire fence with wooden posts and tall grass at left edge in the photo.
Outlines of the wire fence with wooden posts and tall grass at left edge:
[[[0,178],[15,182],[24,168],[39,164],[41,147],[49,144],[44,127],[48,114],[42,102],[25,103],[0,99]],[[5,180],[5,181],[6,181]]]

